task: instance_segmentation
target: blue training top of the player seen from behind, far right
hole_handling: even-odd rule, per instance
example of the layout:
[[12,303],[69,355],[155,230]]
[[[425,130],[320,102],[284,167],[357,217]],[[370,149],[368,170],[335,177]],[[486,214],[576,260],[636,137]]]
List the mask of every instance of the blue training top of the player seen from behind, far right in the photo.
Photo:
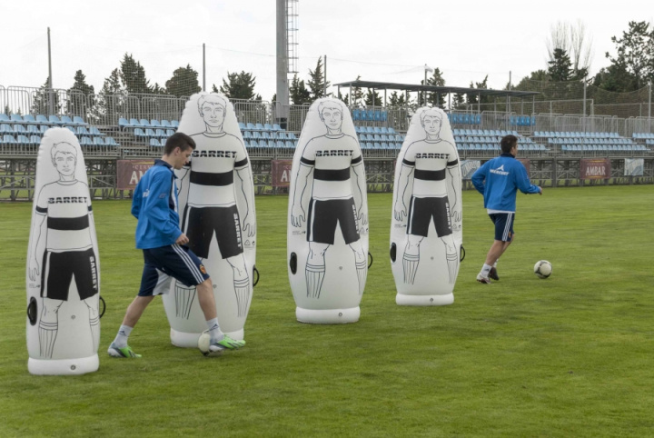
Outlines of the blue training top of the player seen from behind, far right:
[[501,154],[484,163],[472,175],[472,184],[484,195],[484,207],[490,210],[515,212],[516,192],[538,194],[540,189],[530,182],[527,169],[511,154]]

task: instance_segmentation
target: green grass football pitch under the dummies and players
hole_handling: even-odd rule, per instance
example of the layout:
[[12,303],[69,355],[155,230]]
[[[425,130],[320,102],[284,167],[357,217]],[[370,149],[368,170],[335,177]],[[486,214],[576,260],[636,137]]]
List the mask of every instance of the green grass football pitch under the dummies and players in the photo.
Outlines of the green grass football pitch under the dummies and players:
[[[375,263],[361,320],[295,321],[286,196],[257,197],[260,283],[243,351],[173,347],[161,300],[107,356],[142,255],[127,201],[94,203],[102,265],[100,369],[33,376],[25,347],[31,204],[0,204],[0,436],[652,436],[654,186],[520,195],[499,283],[477,284],[492,224],[463,194],[464,246],[445,307],[399,307],[388,257],[391,195],[370,194]],[[547,259],[547,280],[532,274]]]

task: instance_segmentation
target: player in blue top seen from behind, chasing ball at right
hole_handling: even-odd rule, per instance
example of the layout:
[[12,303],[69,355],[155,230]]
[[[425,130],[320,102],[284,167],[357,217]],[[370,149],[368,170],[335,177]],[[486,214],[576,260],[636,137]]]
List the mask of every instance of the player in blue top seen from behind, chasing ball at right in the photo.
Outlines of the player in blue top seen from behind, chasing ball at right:
[[502,154],[484,163],[472,175],[472,184],[484,196],[484,207],[495,224],[495,241],[490,245],[486,262],[477,275],[477,281],[490,284],[497,281],[497,262],[500,255],[513,242],[513,221],[516,211],[516,193],[542,194],[538,185],[530,183],[527,170],[518,160],[518,137],[506,135],[501,139]]

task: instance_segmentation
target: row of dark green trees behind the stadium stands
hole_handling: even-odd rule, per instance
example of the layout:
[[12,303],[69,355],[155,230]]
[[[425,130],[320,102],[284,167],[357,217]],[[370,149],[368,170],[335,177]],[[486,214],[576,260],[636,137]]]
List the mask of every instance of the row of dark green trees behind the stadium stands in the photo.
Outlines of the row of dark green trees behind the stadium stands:
[[[504,89],[530,90],[530,82],[538,81],[545,84],[577,81],[587,85],[595,85],[599,89],[626,93],[638,90],[654,81],[654,27],[645,21],[629,22],[629,27],[622,35],[613,36],[611,42],[615,45],[617,55],[605,54],[609,65],[602,67],[597,75],[589,76],[591,49],[585,28],[581,23],[577,27],[559,23],[552,26],[551,36],[547,42],[550,60],[547,69],[539,69],[520,79],[517,85],[507,84]],[[357,80],[361,75],[357,76]],[[435,68],[427,81],[421,85],[444,86],[446,84],[443,72]],[[242,71],[240,73],[227,73],[223,84],[212,86],[214,92],[220,91],[231,99],[243,99],[252,102],[261,102],[262,96],[254,92],[256,77],[253,73]],[[330,82],[324,76],[324,65],[319,58],[315,68],[309,69],[306,82],[295,74],[289,85],[289,98],[292,105],[309,105],[314,100],[324,97],[325,90]],[[471,82],[470,88],[483,89],[488,87],[488,75],[481,82]],[[32,112],[44,113],[54,99],[54,108],[58,108],[56,95],[48,92],[49,78],[35,94]],[[198,72],[191,65],[180,66],[173,71],[173,75],[163,85],[150,81],[145,75],[144,66],[134,59],[131,54],[125,54],[120,66],[104,79],[104,85],[97,95],[94,95],[94,86],[86,84],[85,75],[78,70],[74,75],[74,85],[67,90],[70,98],[68,110],[74,114],[88,114],[92,108],[81,108],[76,105],[96,107],[94,111],[103,112],[102,106],[107,106],[108,95],[170,95],[175,97],[189,96],[201,91],[198,83]],[[341,95],[347,105],[381,106],[382,99],[379,92],[372,89],[364,90],[352,87],[350,94]],[[545,93],[543,93],[545,94]],[[96,102],[84,99],[74,99],[74,95],[94,95]],[[332,95],[332,94],[327,94]],[[481,99],[481,101],[479,101]],[[276,100],[272,95],[271,101]],[[445,95],[439,93],[419,94],[415,99],[393,91],[388,98],[388,105],[443,105]],[[451,106],[490,103],[490,97],[478,95],[453,95]],[[106,111],[106,108],[104,108]],[[5,108],[8,112],[8,108]]]

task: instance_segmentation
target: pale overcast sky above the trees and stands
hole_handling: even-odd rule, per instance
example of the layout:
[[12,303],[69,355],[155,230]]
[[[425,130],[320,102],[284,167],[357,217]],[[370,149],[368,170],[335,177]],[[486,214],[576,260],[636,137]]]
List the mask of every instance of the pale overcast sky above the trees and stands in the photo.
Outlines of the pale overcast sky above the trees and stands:
[[[50,27],[53,85],[69,88],[81,69],[99,91],[131,53],[151,85],[179,66],[200,73],[206,45],[206,84],[229,72],[252,72],[264,100],[275,93],[275,0],[0,0],[0,85],[40,86],[48,74]],[[300,0],[298,70],[305,82],[327,55],[332,83],[362,80],[419,84],[424,67],[439,67],[446,85],[468,86],[489,76],[490,88],[517,84],[547,69],[546,41],[560,21],[581,20],[592,38],[591,75],[615,55],[610,38],[629,21],[652,23],[650,0],[609,6],[550,0]],[[330,90],[330,91],[334,91]]]

